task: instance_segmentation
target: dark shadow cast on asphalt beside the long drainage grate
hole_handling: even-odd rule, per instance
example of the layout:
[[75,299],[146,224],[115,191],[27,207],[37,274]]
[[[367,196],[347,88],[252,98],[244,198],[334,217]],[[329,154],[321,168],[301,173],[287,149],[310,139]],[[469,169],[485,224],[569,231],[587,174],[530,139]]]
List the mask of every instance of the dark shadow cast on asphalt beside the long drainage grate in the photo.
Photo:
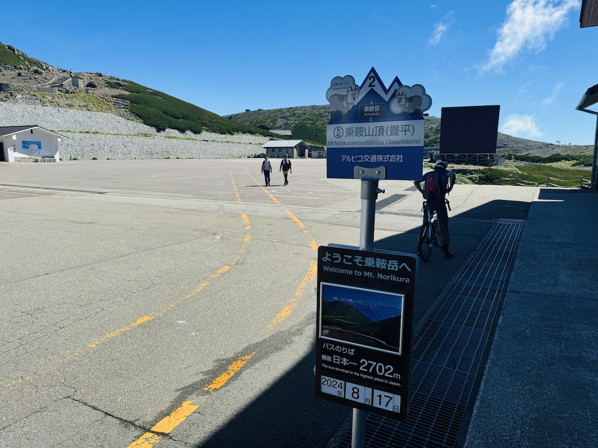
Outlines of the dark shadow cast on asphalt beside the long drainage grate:
[[[492,227],[492,219],[527,218],[529,202],[495,200],[457,215],[450,223],[451,246],[455,257],[445,260],[441,251],[432,253],[428,263],[419,263],[416,277],[416,326],[457,274],[460,266]],[[484,220],[483,222],[459,219]],[[486,222],[490,220],[490,222]],[[413,253],[418,228],[374,242],[375,248]],[[315,315],[314,315],[315,320]],[[315,350],[287,372],[251,406],[199,447],[325,447],[352,410],[315,397]],[[483,369],[482,369],[483,370]],[[344,435],[344,434],[343,434]]]

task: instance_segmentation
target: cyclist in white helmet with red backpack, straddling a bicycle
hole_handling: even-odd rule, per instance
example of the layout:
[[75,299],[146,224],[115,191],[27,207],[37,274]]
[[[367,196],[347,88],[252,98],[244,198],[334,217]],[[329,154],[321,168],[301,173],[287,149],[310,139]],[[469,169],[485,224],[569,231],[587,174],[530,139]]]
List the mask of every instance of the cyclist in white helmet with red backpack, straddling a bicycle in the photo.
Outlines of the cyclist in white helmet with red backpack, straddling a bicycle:
[[[453,254],[449,252],[449,214],[444,202],[445,195],[449,193],[454,186],[455,175],[447,171],[448,162],[438,159],[434,166],[434,171],[429,171],[422,176],[422,179],[416,180],[414,185],[427,200],[426,204],[431,211],[436,211],[438,223],[443,234],[443,257],[451,258]],[[422,188],[422,182],[425,190]],[[427,216],[423,217],[428,219]],[[417,245],[417,255],[422,253],[421,243]]]

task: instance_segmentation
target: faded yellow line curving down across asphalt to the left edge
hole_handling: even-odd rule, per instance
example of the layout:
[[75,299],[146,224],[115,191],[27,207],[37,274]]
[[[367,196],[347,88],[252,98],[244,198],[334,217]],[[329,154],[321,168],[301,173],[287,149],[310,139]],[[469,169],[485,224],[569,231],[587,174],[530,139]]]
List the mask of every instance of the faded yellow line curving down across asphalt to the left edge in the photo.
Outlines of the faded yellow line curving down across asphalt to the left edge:
[[[247,235],[245,237],[245,243],[242,245],[242,248],[240,249],[240,253],[245,253],[245,249],[244,247],[247,246],[247,244],[249,243],[249,241],[247,240]],[[237,256],[233,262],[231,262],[231,265],[227,265],[227,266],[223,266],[222,268],[218,269],[218,273],[214,274],[214,275],[210,275],[210,277],[208,277],[206,280],[211,280],[213,278],[217,278],[220,277],[222,274],[224,274],[225,272],[227,272],[232,265],[234,265],[238,260],[239,260],[239,256]],[[176,300],[176,302],[173,303],[169,303],[168,305],[164,305],[159,311],[156,312],[152,312],[150,314],[147,314],[145,316],[142,316],[140,318],[138,318],[135,322],[130,323],[129,325],[126,325],[124,327],[121,327],[120,329],[114,330],[110,333],[106,333],[106,335],[100,337],[97,340],[94,340],[94,342],[91,342],[90,344],[88,344],[85,348],[73,352],[71,354],[66,355],[65,358],[62,358],[62,360],[58,360],[56,361],[57,363],[65,363],[66,361],[70,361],[74,358],[80,357],[81,355],[84,354],[84,351],[86,350],[90,350],[90,349],[95,349],[97,348],[97,346],[101,345],[102,343],[108,342],[108,340],[111,340],[112,338],[114,338],[115,336],[120,335],[121,333],[127,332],[131,329],[134,329],[135,327],[140,326],[141,324],[145,324],[157,317],[160,317],[161,315],[163,315],[164,313],[166,313],[167,311],[169,311],[169,309],[174,308],[176,305],[179,305],[180,303],[184,302],[187,299],[190,299],[191,297],[193,297],[195,294],[199,293],[200,291],[202,291],[206,286],[209,285],[209,281],[203,281],[202,283],[198,284],[196,286],[196,288],[191,291],[191,293],[182,296],[180,299]],[[30,377],[22,377],[19,379],[14,379],[13,381],[10,381],[8,383],[6,383],[4,386],[10,389],[18,389],[20,386],[23,385],[23,382],[26,380],[29,380]]]

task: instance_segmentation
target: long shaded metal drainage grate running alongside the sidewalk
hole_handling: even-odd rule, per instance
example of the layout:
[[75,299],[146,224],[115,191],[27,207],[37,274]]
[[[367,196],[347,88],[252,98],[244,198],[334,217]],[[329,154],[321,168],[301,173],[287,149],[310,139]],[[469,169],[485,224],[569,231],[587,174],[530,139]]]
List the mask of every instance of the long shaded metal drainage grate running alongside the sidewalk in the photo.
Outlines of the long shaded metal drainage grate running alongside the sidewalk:
[[[368,414],[366,447],[453,448],[524,221],[496,220],[415,337],[404,422]],[[338,447],[350,447],[351,431]]]

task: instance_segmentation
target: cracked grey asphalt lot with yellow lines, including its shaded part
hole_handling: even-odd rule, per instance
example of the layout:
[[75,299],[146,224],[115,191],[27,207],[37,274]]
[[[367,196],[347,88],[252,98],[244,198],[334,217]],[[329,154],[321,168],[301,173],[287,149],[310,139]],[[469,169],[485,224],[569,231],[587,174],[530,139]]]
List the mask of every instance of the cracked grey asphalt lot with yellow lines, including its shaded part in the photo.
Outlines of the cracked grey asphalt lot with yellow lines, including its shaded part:
[[[0,164],[0,446],[334,443],[351,410],[313,394],[312,274],[318,246],[359,245],[361,185],[298,159],[266,188],[260,163]],[[406,198],[375,247],[415,250],[411,186],[380,183]],[[451,215],[492,214],[457,191]],[[451,225],[455,259],[420,266],[416,323],[489,226]]]

